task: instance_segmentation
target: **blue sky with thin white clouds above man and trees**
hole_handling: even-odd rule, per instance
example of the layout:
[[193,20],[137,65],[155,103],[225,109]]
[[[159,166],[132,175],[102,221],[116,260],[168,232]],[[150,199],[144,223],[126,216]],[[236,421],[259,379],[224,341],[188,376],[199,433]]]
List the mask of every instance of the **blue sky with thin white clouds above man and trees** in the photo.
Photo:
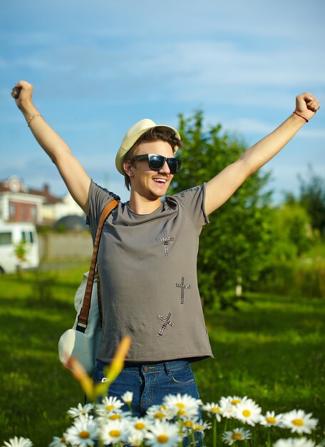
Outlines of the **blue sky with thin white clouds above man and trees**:
[[[88,174],[123,200],[115,154],[139,119],[177,126],[179,113],[202,109],[249,146],[292,113],[297,94],[325,104],[322,0],[10,0],[0,11],[1,180],[66,192],[11,99],[19,79]],[[324,116],[267,165],[275,201],[297,191],[308,164],[325,177]]]

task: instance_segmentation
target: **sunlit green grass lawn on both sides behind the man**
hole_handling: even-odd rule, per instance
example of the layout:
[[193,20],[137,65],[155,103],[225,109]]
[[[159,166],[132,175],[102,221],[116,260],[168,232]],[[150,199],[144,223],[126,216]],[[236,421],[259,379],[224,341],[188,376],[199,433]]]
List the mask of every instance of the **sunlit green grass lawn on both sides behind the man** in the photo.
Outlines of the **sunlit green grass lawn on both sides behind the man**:
[[[47,446],[68,426],[66,410],[83,402],[57,343],[74,321],[73,294],[86,270],[83,263],[0,276],[0,445],[24,436]],[[304,409],[324,428],[324,302],[250,298],[239,311],[206,312],[215,358],[193,363],[202,400],[247,395],[263,411]]]

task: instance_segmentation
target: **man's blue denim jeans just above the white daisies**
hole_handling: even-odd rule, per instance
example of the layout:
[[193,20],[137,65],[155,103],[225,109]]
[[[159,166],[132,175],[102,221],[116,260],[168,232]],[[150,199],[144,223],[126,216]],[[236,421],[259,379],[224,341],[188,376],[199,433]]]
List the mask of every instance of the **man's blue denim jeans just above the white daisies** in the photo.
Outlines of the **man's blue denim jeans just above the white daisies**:
[[[105,378],[105,363],[97,361],[93,380],[101,382]],[[116,380],[108,388],[108,396],[115,396],[122,402],[125,391],[133,392],[131,404],[133,416],[145,416],[152,405],[161,405],[167,394],[185,394],[200,398],[197,384],[190,367],[185,360],[166,361],[162,363],[127,363]],[[125,404],[122,408],[128,411]],[[201,413],[198,415],[201,418]],[[197,438],[197,439],[201,439]],[[187,446],[185,438],[183,446]],[[202,445],[197,442],[197,445]]]

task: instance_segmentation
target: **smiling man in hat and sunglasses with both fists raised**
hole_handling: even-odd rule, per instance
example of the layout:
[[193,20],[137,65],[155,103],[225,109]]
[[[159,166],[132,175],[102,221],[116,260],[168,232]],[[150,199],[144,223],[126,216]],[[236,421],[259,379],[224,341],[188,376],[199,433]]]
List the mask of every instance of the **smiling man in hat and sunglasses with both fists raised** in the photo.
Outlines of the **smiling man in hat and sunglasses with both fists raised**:
[[[87,214],[94,237],[100,212],[115,195],[91,181],[68,145],[44,121],[31,99],[33,86],[20,81],[16,91],[17,106]],[[130,200],[120,203],[108,217],[100,241],[103,340],[94,380],[105,381],[104,366],[110,363],[120,338],[130,335],[125,368],[109,392],[120,397],[133,391],[135,415],[143,415],[168,393],[199,397],[190,362],[212,356],[197,288],[202,226],[318,109],[311,94],[297,96],[294,113],[272,134],[206,184],[167,196],[163,202],[180,169],[175,159],[179,134],[145,119],[125,135],[116,166],[130,188]]]

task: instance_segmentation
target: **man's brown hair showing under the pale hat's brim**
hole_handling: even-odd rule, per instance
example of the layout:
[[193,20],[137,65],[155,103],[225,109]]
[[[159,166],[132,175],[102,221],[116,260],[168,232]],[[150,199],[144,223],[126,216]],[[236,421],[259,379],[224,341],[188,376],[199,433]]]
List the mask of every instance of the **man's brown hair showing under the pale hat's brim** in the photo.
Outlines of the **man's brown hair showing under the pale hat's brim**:
[[[131,149],[128,150],[128,152],[125,154],[123,162],[128,160],[130,161],[131,166],[135,165],[135,156],[137,155],[137,149],[139,144],[141,143],[152,143],[153,141],[166,141],[166,143],[169,143],[170,146],[172,146],[172,151],[176,152],[177,148],[182,147],[182,141],[177,138],[175,135],[175,132],[172,131],[172,129],[169,129],[165,126],[156,126],[152,129],[149,129],[148,131],[145,131],[144,134],[142,134],[137,141],[135,141],[135,144],[131,147]],[[130,177],[126,172],[124,173],[124,181],[126,188],[130,191]]]

